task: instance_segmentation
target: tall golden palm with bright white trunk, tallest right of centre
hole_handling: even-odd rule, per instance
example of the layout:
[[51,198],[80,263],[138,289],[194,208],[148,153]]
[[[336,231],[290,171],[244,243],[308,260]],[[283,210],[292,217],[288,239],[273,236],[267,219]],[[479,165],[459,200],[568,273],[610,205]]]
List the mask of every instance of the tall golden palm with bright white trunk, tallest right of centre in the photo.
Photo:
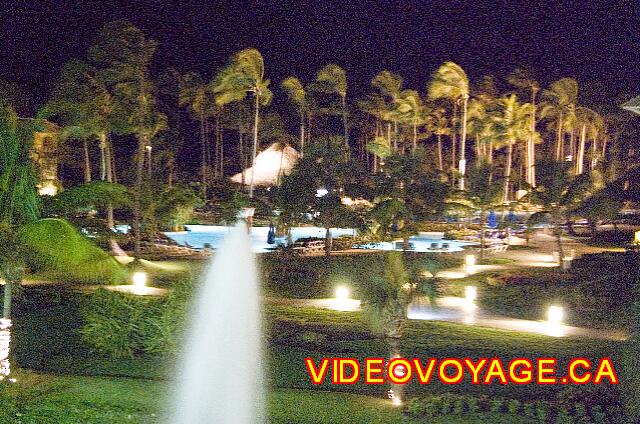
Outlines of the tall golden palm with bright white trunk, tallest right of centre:
[[428,86],[429,99],[447,99],[454,104],[462,102],[462,135],[460,138],[460,190],[464,190],[466,167],[465,150],[467,140],[467,102],[469,101],[469,79],[464,70],[453,62],[442,64],[431,78]]

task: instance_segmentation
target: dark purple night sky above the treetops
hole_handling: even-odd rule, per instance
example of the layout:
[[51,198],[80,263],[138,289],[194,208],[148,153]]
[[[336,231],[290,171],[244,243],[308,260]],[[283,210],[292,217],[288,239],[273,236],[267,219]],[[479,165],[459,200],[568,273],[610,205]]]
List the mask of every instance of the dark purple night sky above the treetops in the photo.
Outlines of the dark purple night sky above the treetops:
[[472,80],[504,78],[525,65],[543,85],[573,76],[610,99],[640,94],[637,1],[0,4],[0,78],[20,83],[40,102],[61,65],[86,58],[102,24],[115,19],[130,20],[159,42],[156,75],[173,66],[210,78],[233,52],[253,46],[274,87],[290,74],[309,81],[335,62],[347,70],[355,96],[382,69],[424,92],[434,69],[453,60]]

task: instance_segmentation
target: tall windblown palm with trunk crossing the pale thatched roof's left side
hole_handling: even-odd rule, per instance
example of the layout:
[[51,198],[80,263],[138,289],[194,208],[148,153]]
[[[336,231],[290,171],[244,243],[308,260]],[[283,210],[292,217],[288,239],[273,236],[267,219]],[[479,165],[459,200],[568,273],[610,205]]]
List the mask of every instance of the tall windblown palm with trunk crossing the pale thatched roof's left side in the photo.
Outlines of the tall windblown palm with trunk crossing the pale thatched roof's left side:
[[[260,106],[267,106],[273,97],[269,90],[269,83],[270,80],[264,78],[264,59],[254,48],[244,49],[234,54],[231,63],[217,75],[214,83],[213,92],[216,94],[216,104],[219,106],[242,101],[247,97],[247,93],[252,93],[254,96],[252,165],[255,164],[258,153]],[[250,198],[253,198],[253,188],[254,173],[252,172],[249,182]]]

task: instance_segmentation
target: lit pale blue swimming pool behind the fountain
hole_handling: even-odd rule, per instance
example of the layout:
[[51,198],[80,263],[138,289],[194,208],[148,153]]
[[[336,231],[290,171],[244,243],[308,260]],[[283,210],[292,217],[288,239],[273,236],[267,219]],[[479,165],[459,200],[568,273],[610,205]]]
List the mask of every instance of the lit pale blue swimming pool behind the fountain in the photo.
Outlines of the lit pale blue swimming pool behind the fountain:
[[[231,227],[220,225],[186,225],[187,231],[167,232],[169,238],[175,242],[196,249],[202,249],[205,243],[216,249],[224,236],[230,231]],[[285,237],[276,237],[275,244],[267,243],[267,234],[269,227],[253,227],[251,228],[251,244],[254,252],[262,253],[272,250],[277,244],[285,244]],[[293,240],[296,241],[305,237],[324,238],[325,229],[320,227],[294,227],[291,229]],[[353,236],[355,230],[352,228],[332,228],[331,234],[335,237]],[[416,252],[459,252],[463,250],[463,246],[473,244],[471,242],[459,240],[443,240],[442,233],[419,233],[409,239],[412,244],[412,250]],[[433,248],[435,247],[435,249]],[[402,243],[384,242],[373,243],[367,246],[361,246],[363,249],[376,250],[402,250]]]

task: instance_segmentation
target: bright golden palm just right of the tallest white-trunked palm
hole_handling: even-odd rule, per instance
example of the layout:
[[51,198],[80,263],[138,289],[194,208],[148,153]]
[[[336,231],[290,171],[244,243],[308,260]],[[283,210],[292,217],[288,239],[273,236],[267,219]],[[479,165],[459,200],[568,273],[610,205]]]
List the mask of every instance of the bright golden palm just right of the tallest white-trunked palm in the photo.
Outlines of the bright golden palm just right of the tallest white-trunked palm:
[[504,197],[509,200],[511,184],[511,168],[513,162],[513,146],[527,140],[530,133],[531,103],[519,103],[515,94],[502,97],[497,104],[495,124],[498,137],[506,143],[507,161],[504,171]]

